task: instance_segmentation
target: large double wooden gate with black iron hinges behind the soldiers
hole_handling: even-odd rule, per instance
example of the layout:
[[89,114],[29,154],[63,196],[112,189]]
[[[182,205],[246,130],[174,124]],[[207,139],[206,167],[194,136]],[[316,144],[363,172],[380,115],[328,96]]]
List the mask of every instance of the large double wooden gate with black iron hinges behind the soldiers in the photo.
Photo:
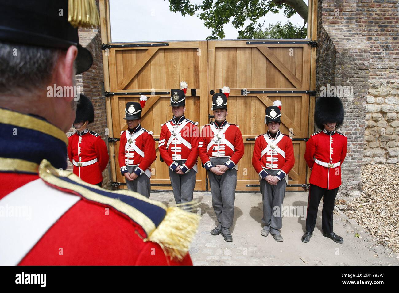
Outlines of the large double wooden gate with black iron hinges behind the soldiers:
[[[310,45],[288,41],[184,41],[168,43],[110,44],[109,79],[116,185],[124,186],[118,150],[120,132],[126,130],[124,107],[128,101],[148,96],[142,126],[159,139],[160,124],[172,117],[170,90],[188,83],[186,117],[203,126],[212,120],[211,91],[231,88],[227,120],[239,125],[245,154],[238,168],[237,190],[258,190],[259,176],[251,165],[255,136],[267,131],[265,109],[282,102],[281,132],[294,138],[295,166],[288,174],[288,189],[306,183],[303,159],[308,137],[310,104]],[[152,189],[171,189],[165,163],[152,164]],[[200,164],[200,162],[199,162]],[[290,186],[291,185],[291,186]],[[206,172],[199,168],[196,190],[209,189]]]

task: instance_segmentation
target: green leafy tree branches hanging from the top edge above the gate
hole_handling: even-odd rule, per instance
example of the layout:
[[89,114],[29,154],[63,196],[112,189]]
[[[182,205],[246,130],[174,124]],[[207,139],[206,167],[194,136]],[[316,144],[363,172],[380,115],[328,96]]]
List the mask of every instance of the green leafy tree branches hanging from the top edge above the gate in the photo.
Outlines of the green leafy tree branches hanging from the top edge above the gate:
[[[304,0],[203,0],[200,4],[192,4],[190,0],[168,1],[170,11],[180,12],[182,16],[194,16],[198,12],[205,27],[212,29],[207,39],[223,39],[223,26],[230,21],[237,29],[239,39],[252,39],[265,24],[265,15],[269,12],[277,14],[281,9],[287,18],[298,13],[306,23],[308,17]],[[258,24],[262,18],[263,24]],[[250,24],[244,27],[247,20]]]

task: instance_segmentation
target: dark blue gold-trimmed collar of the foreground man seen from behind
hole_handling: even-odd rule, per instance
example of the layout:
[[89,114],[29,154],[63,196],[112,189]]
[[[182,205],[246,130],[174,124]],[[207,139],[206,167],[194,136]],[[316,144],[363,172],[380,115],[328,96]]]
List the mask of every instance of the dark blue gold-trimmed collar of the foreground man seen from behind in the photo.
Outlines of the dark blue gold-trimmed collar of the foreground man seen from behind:
[[[47,159],[57,169],[67,168],[67,136],[44,118],[0,108],[0,137],[0,158],[4,161],[23,160],[32,165]],[[0,165],[1,170],[7,166]],[[37,173],[18,167],[12,172]]]

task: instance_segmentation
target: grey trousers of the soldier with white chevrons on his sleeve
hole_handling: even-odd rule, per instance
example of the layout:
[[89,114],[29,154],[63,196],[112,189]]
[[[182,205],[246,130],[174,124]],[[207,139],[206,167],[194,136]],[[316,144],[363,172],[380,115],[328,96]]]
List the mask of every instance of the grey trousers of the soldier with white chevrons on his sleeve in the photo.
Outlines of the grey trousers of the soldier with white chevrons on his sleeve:
[[[175,161],[179,165],[186,163],[186,160]],[[172,183],[173,196],[176,204],[187,203],[193,200],[193,191],[196,185],[197,172],[191,169],[188,173],[180,175],[169,169],[170,183]]]

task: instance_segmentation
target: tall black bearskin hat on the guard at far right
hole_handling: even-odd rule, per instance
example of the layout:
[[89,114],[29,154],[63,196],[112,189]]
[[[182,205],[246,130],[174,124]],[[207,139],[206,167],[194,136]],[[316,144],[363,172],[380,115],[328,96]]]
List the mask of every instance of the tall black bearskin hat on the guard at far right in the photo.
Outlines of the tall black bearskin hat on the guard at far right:
[[324,124],[337,122],[339,128],[344,122],[344,106],[338,97],[320,97],[314,106],[314,123],[321,130]]

